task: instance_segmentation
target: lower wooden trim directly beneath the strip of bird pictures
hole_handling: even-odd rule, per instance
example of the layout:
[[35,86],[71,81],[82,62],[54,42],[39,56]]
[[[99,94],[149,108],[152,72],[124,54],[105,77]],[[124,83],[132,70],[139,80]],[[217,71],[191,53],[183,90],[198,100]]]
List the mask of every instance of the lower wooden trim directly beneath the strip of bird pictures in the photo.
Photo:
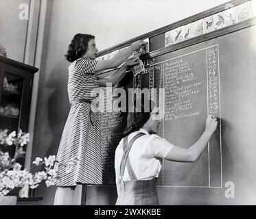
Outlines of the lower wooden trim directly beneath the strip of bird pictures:
[[152,51],[151,53],[148,53],[146,55],[142,56],[142,60],[148,60],[152,57],[156,57],[159,55],[163,55],[165,53],[170,53],[172,51],[176,51],[178,49],[183,49],[185,47],[189,47],[193,44],[198,44],[200,42],[204,42],[207,40],[211,40],[213,38],[217,38],[219,36],[223,36],[226,34],[230,34],[234,31],[240,30],[240,29],[244,29],[246,27],[251,27],[253,25],[256,25],[256,18],[251,18],[247,21],[243,21],[241,23],[237,23],[235,25],[229,26],[229,27],[224,27],[222,29],[218,29],[216,31],[210,32],[208,34],[204,34],[201,36],[197,36],[195,38],[191,38],[189,40],[185,40],[183,42],[178,42],[170,47],[164,47],[162,49],[158,49],[156,51]]

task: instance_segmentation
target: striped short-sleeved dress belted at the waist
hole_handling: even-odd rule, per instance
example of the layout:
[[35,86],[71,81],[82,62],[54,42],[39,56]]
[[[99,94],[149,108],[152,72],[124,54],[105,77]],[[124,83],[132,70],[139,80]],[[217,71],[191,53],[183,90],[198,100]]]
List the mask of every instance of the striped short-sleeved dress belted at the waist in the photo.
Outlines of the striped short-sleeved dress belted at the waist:
[[[96,60],[80,58],[69,66],[69,101],[87,99],[97,102],[99,83]],[[89,103],[71,106],[57,154],[57,186],[102,184],[102,155],[98,115]]]

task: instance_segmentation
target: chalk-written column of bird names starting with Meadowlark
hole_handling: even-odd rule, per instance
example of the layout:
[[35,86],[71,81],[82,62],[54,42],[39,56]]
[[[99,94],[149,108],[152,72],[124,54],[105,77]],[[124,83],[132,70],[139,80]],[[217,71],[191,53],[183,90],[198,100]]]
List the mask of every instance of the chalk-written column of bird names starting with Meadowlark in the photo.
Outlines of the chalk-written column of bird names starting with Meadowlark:
[[189,96],[200,92],[201,82],[196,81],[191,64],[180,58],[164,62],[165,87],[165,120],[174,120],[198,116],[200,112],[193,110],[193,102]]

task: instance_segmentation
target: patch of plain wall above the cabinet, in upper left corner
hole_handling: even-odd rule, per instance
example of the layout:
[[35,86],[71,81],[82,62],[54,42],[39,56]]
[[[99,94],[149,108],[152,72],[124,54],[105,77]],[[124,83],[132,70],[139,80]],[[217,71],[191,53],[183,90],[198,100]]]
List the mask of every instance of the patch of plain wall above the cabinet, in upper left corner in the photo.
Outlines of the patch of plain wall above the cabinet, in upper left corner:
[[28,22],[19,18],[21,3],[30,5],[30,0],[0,1],[0,42],[7,57],[18,62],[24,59]]

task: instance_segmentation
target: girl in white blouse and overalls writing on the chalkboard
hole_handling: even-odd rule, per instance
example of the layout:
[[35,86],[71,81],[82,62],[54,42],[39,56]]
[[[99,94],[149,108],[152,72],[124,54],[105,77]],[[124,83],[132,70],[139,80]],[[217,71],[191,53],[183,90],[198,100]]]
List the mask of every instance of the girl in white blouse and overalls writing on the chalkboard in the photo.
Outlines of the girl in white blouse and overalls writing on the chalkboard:
[[183,149],[155,135],[161,119],[159,109],[150,105],[150,109],[145,109],[142,104],[139,112],[128,113],[126,137],[115,151],[116,205],[159,205],[156,178],[161,162],[158,158],[196,162],[218,125],[214,116],[208,116],[205,131],[197,142],[189,149]]

